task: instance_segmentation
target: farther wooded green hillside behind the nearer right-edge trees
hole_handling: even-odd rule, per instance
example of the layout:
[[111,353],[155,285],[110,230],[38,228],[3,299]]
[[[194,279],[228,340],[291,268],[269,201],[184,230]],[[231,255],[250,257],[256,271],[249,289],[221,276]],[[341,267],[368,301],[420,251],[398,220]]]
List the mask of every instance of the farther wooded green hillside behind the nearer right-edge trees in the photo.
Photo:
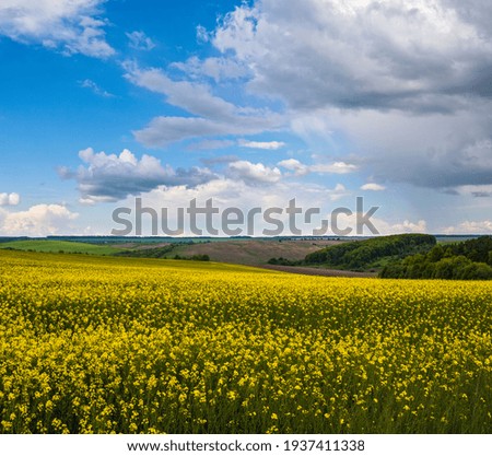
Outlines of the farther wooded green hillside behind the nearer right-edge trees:
[[429,234],[397,234],[373,237],[326,247],[305,258],[305,264],[323,264],[342,269],[367,268],[388,257],[405,258],[417,253],[425,253],[436,244]]

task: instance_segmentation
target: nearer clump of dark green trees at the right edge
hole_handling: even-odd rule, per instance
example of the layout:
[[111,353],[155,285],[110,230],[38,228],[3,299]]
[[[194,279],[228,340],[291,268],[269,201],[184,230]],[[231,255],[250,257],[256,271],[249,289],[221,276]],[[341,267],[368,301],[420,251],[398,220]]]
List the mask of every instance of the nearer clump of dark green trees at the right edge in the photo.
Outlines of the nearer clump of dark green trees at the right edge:
[[412,255],[387,265],[379,277],[395,279],[492,279],[492,237],[483,236],[452,244],[436,245],[426,255]]

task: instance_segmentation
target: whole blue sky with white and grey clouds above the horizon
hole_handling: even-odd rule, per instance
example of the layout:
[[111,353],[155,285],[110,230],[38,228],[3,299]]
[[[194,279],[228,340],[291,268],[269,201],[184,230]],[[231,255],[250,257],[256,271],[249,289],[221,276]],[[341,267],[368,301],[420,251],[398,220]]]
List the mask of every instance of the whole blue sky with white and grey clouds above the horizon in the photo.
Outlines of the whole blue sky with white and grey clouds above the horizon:
[[109,234],[136,197],[325,215],[358,196],[382,233],[492,233],[491,19],[481,0],[4,0],[0,235]]

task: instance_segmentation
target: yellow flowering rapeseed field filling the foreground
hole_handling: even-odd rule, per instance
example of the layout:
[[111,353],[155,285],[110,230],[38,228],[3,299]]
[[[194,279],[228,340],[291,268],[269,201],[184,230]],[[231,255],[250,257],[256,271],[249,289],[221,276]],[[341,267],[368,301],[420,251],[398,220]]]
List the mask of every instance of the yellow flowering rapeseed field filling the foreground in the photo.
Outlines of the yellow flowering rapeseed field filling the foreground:
[[2,433],[489,433],[492,283],[0,252]]

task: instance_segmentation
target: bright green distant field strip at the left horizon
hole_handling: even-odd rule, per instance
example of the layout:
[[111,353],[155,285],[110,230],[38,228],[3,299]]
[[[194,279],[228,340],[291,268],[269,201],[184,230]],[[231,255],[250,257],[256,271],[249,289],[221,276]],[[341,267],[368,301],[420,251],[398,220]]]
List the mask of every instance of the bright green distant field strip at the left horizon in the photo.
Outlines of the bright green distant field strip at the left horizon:
[[66,253],[66,254],[90,254],[90,255],[113,255],[121,252],[120,248],[105,245],[94,245],[75,243],[70,241],[13,241],[0,244],[0,248],[12,248],[15,250],[33,250],[40,253]]

